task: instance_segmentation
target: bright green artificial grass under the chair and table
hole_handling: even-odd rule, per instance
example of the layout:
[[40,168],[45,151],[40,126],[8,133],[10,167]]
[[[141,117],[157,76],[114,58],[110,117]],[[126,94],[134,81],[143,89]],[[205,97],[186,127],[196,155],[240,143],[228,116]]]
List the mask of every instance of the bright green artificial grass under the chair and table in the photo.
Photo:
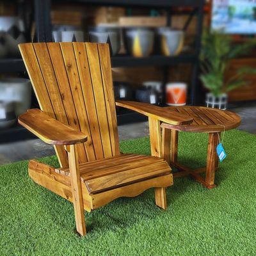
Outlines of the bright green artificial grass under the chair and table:
[[[86,212],[77,236],[72,204],[28,177],[28,161],[1,166],[0,255],[255,255],[256,140],[225,133],[227,159],[212,190],[175,179],[168,209],[154,204],[154,189]],[[205,165],[207,134],[180,133],[180,161]],[[149,154],[148,138],[123,141],[123,152]],[[45,163],[57,164],[56,157]],[[196,164],[196,162],[198,164]]]

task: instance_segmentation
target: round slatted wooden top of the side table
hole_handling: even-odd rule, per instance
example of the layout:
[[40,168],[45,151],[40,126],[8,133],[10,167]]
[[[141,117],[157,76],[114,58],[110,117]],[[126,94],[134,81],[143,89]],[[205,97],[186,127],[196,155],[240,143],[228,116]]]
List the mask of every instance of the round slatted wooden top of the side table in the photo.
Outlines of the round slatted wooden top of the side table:
[[161,126],[176,131],[186,132],[222,132],[234,129],[241,124],[241,118],[236,113],[223,111],[215,108],[195,107],[195,106],[172,106],[166,107],[170,111],[178,112],[193,118],[191,124]]

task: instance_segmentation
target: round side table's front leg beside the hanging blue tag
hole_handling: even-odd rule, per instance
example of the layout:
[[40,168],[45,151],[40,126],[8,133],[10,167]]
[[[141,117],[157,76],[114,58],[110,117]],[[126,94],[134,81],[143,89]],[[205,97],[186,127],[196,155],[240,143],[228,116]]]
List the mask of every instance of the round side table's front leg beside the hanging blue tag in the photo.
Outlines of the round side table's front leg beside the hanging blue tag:
[[209,133],[208,152],[207,152],[207,166],[205,182],[209,184],[208,188],[214,188],[215,169],[217,164],[216,147],[218,145],[218,132]]

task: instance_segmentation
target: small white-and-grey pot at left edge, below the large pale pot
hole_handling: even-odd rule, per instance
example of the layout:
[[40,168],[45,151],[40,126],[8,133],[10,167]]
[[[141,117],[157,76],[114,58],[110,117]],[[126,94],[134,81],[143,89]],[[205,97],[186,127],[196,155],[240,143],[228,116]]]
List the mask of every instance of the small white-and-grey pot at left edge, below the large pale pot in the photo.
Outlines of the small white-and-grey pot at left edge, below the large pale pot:
[[0,129],[11,127],[16,122],[13,102],[0,100]]

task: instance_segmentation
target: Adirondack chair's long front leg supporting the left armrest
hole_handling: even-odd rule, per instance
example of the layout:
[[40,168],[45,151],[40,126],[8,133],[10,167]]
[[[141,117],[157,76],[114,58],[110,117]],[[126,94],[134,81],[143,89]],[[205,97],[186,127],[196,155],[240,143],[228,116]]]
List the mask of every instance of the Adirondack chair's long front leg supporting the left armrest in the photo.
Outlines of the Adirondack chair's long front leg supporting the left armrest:
[[71,189],[76,218],[76,230],[81,236],[84,236],[86,234],[86,227],[84,220],[83,193],[81,187],[77,150],[75,145],[67,146],[66,149],[68,152]]

